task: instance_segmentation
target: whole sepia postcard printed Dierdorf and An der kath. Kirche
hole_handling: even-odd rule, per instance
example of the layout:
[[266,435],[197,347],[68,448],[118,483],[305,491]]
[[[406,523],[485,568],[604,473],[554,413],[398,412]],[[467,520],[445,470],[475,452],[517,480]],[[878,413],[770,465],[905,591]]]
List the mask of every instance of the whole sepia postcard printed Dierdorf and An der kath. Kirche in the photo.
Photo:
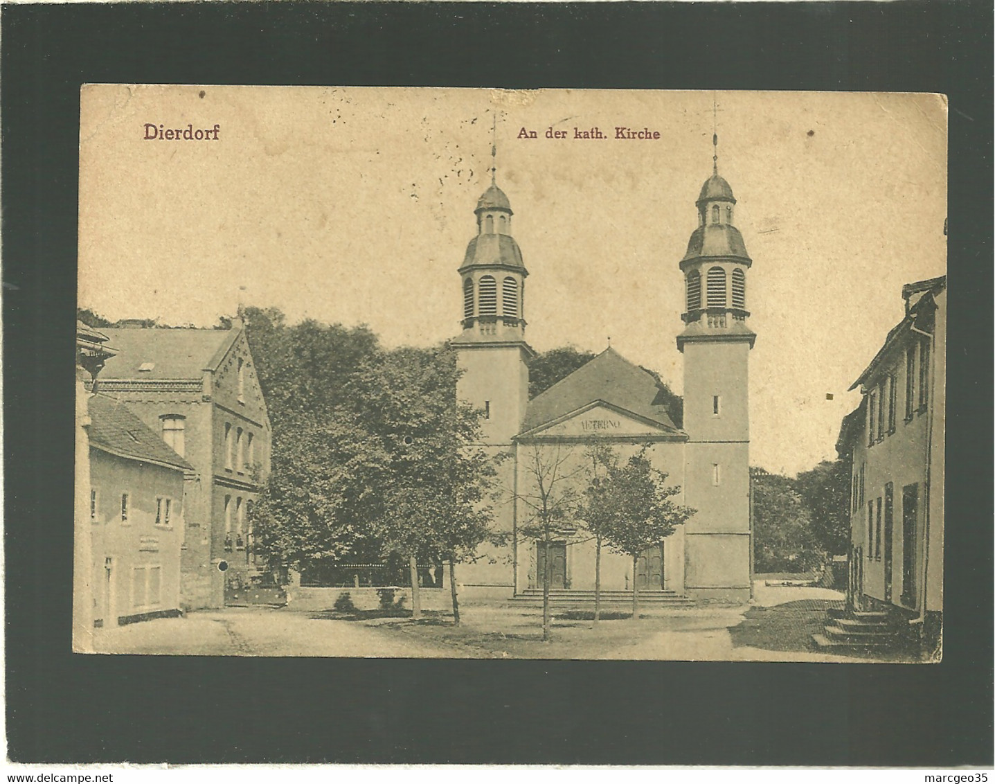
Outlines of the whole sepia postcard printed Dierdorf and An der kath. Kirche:
[[75,649],[939,661],[946,128],[85,86]]

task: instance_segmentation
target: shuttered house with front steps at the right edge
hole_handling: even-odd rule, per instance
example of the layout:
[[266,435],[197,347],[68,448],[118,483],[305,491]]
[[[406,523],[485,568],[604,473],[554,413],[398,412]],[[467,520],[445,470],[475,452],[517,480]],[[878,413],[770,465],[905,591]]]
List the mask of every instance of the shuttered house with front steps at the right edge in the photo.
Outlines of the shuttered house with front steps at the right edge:
[[849,599],[926,636],[943,611],[946,279],[902,288],[905,313],[851,389],[837,451],[852,467]]

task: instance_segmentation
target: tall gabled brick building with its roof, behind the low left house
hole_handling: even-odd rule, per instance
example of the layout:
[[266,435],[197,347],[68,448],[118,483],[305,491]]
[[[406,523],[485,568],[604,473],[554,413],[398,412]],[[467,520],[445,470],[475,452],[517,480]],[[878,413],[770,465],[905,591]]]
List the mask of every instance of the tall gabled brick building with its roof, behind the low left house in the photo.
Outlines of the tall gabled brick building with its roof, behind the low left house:
[[269,473],[271,427],[245,329],[103,329],[117,353],[100,390],[193,466],[182,605],[220,607],[259,573],[249,520]]

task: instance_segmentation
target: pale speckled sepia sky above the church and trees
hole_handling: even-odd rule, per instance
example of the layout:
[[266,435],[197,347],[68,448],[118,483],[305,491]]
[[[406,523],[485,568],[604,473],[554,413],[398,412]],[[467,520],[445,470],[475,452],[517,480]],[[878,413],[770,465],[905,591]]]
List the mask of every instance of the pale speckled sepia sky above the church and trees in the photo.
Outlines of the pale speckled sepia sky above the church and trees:
[[[146,123],[220,127],[177,141]],[[494,139],[527,341],[610,339],[681,393],[678,265],[714,130],[753,260],[750,462],[793,475],[836,457],[901,286],[946,273],[946,125],[945,99],[918,94],[85,86],[80,305],[208,326],[244,303],[387,346],[454,337]],[[574,138],[594,127],[606,138]]]

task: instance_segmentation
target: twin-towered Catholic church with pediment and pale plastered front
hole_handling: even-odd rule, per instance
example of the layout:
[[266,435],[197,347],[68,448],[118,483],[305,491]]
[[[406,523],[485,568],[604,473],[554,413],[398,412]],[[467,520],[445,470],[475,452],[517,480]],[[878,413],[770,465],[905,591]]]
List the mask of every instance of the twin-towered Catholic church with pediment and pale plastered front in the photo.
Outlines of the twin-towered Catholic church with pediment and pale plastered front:
[[[671,418],[663,388],[646,370],[609,347],[539,395],[528,398],[525,278],[511,234],[513,215],[494,179],[476,209],[477,236],[459,269],[463,331],[452,341],[464,374],[462,400],[483,412],[482,447],[497,460],[496,527],[508,544],[461,566],[469,594],[527,597],[541,589],[544,547],[525,535],[550,481],[588,481],[584,462],[595,440],[621,459],[645,449],[653,466],[680,486],[672,500],[696,513],[634,568],[604,548],[601,586],[621,597],[746,601],[750,595],[749,416],[747,364],[755,339],[747,326],[746,275],[752,262],[734,224],[736,200],[717,164],[697,198],[697,228],[676,265],[686,309],[677,334],[684,354],[684,421]],[[672,274],[677,283],[677,270]],[[661,314],[664,326],[670,316]],[[676,314],[674,317],[676,321]],[[655,325],[656,326],[656,325]],[[677,324],[675,324],[677,326]],[[624,352],[624,346],[620,346]],[[553,478],[559,478],[553,480]],[[538,490],[538,484],[543,490]],[[552,588],[585,596],[594,588],[595,544],[580,520],[557,525],[550,547]]]

